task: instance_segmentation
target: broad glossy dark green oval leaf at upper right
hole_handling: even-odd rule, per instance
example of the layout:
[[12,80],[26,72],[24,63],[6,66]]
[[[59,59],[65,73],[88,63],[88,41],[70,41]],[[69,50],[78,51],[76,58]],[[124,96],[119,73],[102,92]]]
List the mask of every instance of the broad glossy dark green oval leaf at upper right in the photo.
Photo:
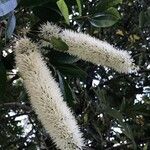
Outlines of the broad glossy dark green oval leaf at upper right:
[[112,7],[103,13],[94,14],[89,21],[95,27],[110,27],[117,23],[119,19],[119,12]]

